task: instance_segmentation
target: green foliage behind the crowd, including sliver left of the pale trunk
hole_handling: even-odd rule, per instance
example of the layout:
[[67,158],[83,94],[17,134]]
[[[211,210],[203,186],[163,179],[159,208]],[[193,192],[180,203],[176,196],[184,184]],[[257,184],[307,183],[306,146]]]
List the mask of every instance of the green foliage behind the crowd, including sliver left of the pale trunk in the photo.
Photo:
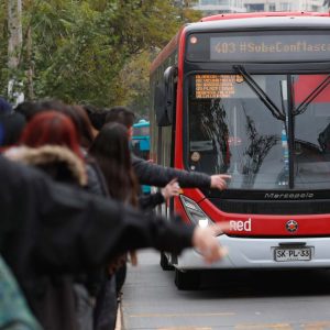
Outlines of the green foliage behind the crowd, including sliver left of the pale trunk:
[[[151,50],[162,48],[187,20],[174,0],[25,0],[20,76],[35,99],[147,110]],[[0,2],[0,94],[7,88],[7,18]],[[28,30],[32,31],[32,53]],[[25,92],[28,96],[28,92]]]

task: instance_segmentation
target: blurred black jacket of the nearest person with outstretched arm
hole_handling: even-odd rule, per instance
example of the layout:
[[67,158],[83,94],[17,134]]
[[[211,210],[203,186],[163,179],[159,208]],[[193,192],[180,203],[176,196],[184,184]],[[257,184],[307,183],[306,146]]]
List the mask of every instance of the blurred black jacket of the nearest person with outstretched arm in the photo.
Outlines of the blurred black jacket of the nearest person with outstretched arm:
[[48,274],[84,272],[134,249],[179,253],[191,246],[194,231],[56,184],[40,170],[2,156],[0,215],[0,253],[32,310]]

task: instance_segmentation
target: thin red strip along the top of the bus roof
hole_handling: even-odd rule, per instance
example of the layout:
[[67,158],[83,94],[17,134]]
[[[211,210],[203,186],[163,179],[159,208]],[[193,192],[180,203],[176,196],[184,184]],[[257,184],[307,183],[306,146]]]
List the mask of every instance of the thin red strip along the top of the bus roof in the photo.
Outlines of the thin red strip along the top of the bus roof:
[[244,13],[228,13],[228,14],[217,14],[207,18],[202,18],[200,22],[219,21],[219,20],[237,20],[237,19],[254,19],[254,18],[268,18],[268,16],[329,16],[329,12],[308,12],[308,11],[297,11],[297,12],[283,12],[283,11],[272,11],[272,12],[244,12]]

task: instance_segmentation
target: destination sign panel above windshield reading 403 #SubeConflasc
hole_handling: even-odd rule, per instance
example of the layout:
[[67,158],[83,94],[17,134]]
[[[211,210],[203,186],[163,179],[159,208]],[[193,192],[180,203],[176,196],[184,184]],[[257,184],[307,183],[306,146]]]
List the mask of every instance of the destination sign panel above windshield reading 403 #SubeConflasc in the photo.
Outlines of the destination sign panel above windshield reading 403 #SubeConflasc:
[[[195,40],[194,40],[195,37]],[[193,41],[195,41],[193,43]],[[189,42],[191,41],[191,42]],[[197,41],[197,42],[196,42]],[[194,34],[188,61],[212,62],[330,62],[330,34]]]

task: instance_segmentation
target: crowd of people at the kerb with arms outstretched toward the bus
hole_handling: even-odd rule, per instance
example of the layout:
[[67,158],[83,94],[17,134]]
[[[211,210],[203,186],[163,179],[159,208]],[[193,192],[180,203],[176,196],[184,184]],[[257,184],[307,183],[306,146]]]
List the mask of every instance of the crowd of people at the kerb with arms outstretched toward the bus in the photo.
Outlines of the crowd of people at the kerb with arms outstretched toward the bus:
[[[223,227],[152,210],[182,187],[226,189],[229,177],[132,155],[134,120],[125,107],[47,100],[13,109],[0,98],[0,328],[114,329],[136,250],[196,248],[207,263],[227,253],[216,239]],[[142,195],[140,185],[160,193]]]

